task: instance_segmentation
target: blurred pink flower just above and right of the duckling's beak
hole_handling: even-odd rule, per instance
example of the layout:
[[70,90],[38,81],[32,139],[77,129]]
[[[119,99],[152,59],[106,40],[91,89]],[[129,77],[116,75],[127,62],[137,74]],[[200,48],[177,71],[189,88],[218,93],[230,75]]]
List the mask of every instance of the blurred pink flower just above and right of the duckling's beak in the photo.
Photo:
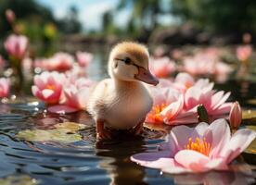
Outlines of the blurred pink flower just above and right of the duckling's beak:
[[168,57],[151,60],[150,70],[158,78],[166,78],[176,69],[175,63]]

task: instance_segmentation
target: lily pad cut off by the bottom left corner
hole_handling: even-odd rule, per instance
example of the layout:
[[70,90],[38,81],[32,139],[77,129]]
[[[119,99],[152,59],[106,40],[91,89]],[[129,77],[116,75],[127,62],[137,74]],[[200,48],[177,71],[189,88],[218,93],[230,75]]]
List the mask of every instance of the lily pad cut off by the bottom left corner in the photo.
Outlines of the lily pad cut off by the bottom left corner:
[[36,179],[32,179],[29,176],[9,176],[3,179],[0,179],[1,185],[35,185],[38,184]]

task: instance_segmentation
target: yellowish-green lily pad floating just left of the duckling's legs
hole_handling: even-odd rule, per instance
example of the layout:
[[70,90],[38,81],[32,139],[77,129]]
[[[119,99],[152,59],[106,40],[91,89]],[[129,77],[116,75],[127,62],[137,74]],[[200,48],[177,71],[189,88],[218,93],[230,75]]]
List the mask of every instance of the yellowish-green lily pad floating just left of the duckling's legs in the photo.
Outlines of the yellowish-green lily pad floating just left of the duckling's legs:
[[19,139],[30,142],[79,142],[82,136],[76,133],[85,128],[83,124],[64,122],[55,125],[56,129],[25,129],[16,135]]

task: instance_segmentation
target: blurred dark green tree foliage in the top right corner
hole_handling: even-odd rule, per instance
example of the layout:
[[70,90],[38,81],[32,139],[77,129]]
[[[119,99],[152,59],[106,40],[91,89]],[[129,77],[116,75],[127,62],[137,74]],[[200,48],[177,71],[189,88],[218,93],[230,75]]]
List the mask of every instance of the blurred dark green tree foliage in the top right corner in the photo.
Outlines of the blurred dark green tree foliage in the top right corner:
[[172,0],[173,15],[210,31],[256,31],[256,1]]

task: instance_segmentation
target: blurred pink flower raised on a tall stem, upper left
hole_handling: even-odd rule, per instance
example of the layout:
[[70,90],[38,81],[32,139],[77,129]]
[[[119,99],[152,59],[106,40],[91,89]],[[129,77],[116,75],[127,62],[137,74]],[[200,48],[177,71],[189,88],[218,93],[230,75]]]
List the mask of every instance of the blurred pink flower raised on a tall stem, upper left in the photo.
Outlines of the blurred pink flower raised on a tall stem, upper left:
[[4,43],[7,53],[21,59],[25,56],[28,47],[28,38],[24,35],[11,34]]

